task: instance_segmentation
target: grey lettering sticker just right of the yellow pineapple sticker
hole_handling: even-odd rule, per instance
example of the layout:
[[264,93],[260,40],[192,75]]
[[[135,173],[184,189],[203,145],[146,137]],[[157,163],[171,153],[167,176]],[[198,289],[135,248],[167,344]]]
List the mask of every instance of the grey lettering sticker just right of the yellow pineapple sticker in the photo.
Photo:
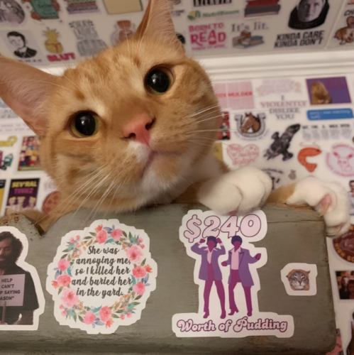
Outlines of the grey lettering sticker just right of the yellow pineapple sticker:
[[77,38],[77,50],[80,55],[91,56],[106,49],[106,43],[99,38],[91,20],[72,21],[70,27]]

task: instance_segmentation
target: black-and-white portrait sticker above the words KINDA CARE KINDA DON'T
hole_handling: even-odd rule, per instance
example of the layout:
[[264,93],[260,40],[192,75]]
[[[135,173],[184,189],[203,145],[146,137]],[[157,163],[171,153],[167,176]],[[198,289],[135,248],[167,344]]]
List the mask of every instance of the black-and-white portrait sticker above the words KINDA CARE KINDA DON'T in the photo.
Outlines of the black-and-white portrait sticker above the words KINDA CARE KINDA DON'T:
[[328,0],[297,0],[288,26],[297,30],[319,27],[326,21],[328,10]]

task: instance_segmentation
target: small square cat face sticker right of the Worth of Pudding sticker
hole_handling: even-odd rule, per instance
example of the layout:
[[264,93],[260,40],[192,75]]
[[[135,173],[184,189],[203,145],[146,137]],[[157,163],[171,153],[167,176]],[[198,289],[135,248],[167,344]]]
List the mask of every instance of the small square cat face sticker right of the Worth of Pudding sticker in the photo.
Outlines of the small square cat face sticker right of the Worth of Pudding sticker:
[[289,263],[280,271],[282,283],[289,296],[314,296],[317,293],[317,266]]

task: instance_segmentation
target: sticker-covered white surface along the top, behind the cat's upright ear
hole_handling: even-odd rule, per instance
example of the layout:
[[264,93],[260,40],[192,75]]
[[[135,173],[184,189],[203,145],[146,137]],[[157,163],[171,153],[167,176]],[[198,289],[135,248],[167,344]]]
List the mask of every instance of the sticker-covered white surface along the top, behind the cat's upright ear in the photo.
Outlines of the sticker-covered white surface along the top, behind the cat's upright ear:
[[[187,54],[345,49],[352,0],[172,0]],[[0,53],[32,65],[75,62],[131,38],[148,0],[0,0]]]

